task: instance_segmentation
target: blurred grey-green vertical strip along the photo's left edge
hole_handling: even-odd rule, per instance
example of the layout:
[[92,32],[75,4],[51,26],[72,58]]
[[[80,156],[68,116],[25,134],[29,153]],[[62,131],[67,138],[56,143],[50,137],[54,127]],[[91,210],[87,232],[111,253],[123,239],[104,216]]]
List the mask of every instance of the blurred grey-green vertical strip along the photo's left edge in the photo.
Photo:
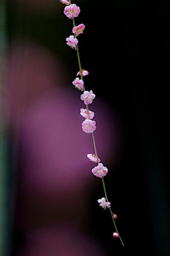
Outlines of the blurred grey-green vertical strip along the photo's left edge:
[[4,73],[6,70],[6,2],[0,1],[0,255],[10,255],[9,231],[9,172],[8,172],[8,137],[6,122],[3,117],[5,101]]

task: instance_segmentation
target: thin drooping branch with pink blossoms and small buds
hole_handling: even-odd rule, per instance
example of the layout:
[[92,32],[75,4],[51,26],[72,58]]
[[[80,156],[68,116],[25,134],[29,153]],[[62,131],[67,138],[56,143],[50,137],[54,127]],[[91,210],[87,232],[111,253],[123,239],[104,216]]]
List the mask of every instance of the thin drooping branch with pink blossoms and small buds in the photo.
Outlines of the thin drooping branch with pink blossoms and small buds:
[[[98,163],[98,166],[94,167],[91,170],[91,172],[96,177],[101,178],[102,184],[103,184],[103,190],[104,190],[104,194],[105,194],[105,198],[103,197],[102,199],[98,199],[98,204],[99,204],[99,206],[101,206],[104,209],[109,208],[109,210],[111,212],[111,218],[113,220],[113,224],[115,227],[115,232],[113,233],[113,237],[120,238],[120,235],[118,233],[118,228],[116,227],[116,224],[115,224],[115,218],[117,218],[117,216],[111,210],[111,203],[108,201],[108,196],[106,193],[106,186],[105,186],[105,182],[104,182],[104,178],[103,178],[108,173],[108,169],[103,166],[103,164],[101,163],[101,160],[98,158],[96,141],[95,141],[95,136],[94,136],[94,130],[96,130],[96,122],[91,120],[92,118],[94,118],[94,112],[89,111],[89,106],[88,106],[89,104],[91,104],[93,102],[96,95],[94,94],[94,92],[92,90],[86,91],[85,86],[84,86],[84,78],[83,77],[86,76],[87,74],[89,74],[89,72],[81,68],[81,60],[80,60],[79,47],[78,47],[79,41],[77,40],[77,36],[79,34],[83,33],[85,26],[82,23],[79,26],[76,26],[76,23],[74,21],[74,18],[79,16],[79,13],[80,13],[79,6],[77,6],[76,4],[72,4],[71,0],[69,0],[69,1],[60,0],[60,2],[62,4],[66,5],[64,8],[64,14],[68,18],[72,19],[72,23],[73,23],[72,33],[74,33],[74,35],[70,35],[69,38],[67,38],[66,40],[67,40],[67,45],[69,45],[69,47],[71,47],[74,50],[77,50],[77,59],[78,59],[78,63],[79,63],[79,72],[77,73],[77,75],[80,75],[81,79],[79,79],[77,77],[76,79],[74,79],[72,84],[74,84],[74,87],[79,89],[80,91],[84,91],[84,93],[81,94],[81,98],[80,98],[81,101],[84,101],[84,104],[86,105],[86,109],[84,109],[84,108],[80,109],[81,116],[86,118],[85,121],[82,123],[82,130],[84,130],[85,133],[91,133],[93,143],[94,143],[94,152],[95,152],[95,154],[88,154],[87,157],[92,162]],[[120,238],[120,242],[122,245],[124,245],[123,240],[121,238]]]

